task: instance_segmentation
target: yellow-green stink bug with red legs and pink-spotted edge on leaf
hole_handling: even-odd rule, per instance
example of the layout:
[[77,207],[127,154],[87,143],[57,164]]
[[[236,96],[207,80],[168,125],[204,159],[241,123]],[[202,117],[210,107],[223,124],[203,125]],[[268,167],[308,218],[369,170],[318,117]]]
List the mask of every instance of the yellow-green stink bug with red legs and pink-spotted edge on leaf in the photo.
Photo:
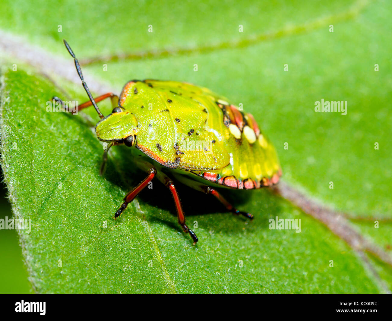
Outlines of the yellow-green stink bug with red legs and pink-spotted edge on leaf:
[[[141,156],[134,158],[135,163],[148,173],[125,195],[115,218],[153,178],[158,178],[172,193],[178,223],[195,244],[198,238],[185,224],[180,198],[169,175],[193,189],[212,194],[229,212],[253,218],[252,214],[234,208],[216,190],[259,189],[279,181],[281,169],[275,148],[251,114],[209,89],[174,81],[131,80],[120,97],[109,92],[93,98],[78,60],[65,40],[64,44],[90,99],[79,105],[79,111],[93,105],[101,118],[95,131],[100,141],[108,143],[103,166],[109,148],[125,144],[132,155]],[[96,104],[105,98],[111,98],[113,105],[106,117]]]

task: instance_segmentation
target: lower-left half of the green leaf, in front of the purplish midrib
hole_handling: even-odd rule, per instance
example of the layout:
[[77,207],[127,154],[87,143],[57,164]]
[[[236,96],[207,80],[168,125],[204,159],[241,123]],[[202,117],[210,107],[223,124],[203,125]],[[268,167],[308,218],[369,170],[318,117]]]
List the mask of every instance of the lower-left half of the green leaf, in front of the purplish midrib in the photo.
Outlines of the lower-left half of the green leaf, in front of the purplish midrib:
[[[82,114],[45,111],[60,94],[53,85],[8,71],[3,93],[3,169],[16,217],[31,219],[31,232],[20,236],[38,292],[377,291],[347,245],[266,190],[241,205],[257,213],[251,223],[226,213],[189,216],[191,225],[198,221],[197,246],[176,225],[169,191],[158,183],[114,221],[138,181],[128,173],[128,150],[113,152],[102,178],[102,145]],[[190,212],[209,212],[213,203],[201,193],[181,196]],[[269,230],[274,216],[301,218],[301,233]]]

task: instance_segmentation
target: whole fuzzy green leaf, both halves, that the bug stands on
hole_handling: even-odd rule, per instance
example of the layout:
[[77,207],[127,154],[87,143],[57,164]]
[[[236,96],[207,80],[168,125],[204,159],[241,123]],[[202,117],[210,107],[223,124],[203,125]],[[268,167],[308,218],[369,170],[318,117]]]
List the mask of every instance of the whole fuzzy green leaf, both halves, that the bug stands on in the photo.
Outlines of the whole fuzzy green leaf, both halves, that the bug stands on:
[[[50,5],[29,5],[18,15],[8,15],[21,5],[6,1],[0,27],[71,59],[61,43],[67,38],[81,60],[166,47],[198,48],[285,30],[281,37],[253,45],[110,61],[108,71],[102,63],[82,68],[95,80],[117,87],[117,94],[131,78],[172,79],[209,87],[243,103],[276,145],[283,179],[331,207],[351,212],[359,231],[387,247],[392,242],[390,222],[380,220],[379,229],[373,220],[356,222],[362,216],[390,219],[392,212],[387,134],[392,131],[392,5],[334,1],[326,9],[318,2],[282,2],[263,10],[252,9],[258,8],[256,2],[247,7],[238,2],[198,4],[196,9],[192,5],[173,2],[120,10],[115,3],[94,2],[83,8],[65,3],[56,11],[66,17],[63,22],[50,22]],[[105,24],[101,19],[86,21],[86,12],[105,16]],[[114,13],[120,16],[112,19]],[[333,33],[326,17],[334,24]],[[315,21],[323,24],[315,28]],[[31,24],[36,28],[29,28]],[[149,24],[153,33],[147,32]],[[244,33],[238,32],[240,24]],[[11,57],[5,64],[13,63]],[[195,63],[198,72],[193,71]],[[73,99],[87,99],[81,86],[51,76]],[[89,83],[92,77],[86,79]],[[92,127],[96,114],[46,112],[45,103],[53,95],[64,93],[37,70],[19,63],[18,71],[3,70],[2,168],[15,216],[32,222],[31,232],[20,231],[20,239],[37,292],[385,291],[346,243],[269,190],[225,192],[236,206],[254,214],[254,221],[247,222],[223,212],[214,199],[181,187],[187,222],[198,223],[196,246],[178,226],[170,193],[158,181],[115,221],[123,196],[145,175],[134,167],[129,149],[114,147],[100,177],[103,149]],[[322,98],[347,101],[347,115],[314,112],[314,102]],[[103,106],[107,114],[111,108]],[[286,142],[289,149],[283,148]],[[270,230],[269,219],[276,216],[300,218],[301,232]],[[391,268],[373,258],[371,262],[390,287]]]

